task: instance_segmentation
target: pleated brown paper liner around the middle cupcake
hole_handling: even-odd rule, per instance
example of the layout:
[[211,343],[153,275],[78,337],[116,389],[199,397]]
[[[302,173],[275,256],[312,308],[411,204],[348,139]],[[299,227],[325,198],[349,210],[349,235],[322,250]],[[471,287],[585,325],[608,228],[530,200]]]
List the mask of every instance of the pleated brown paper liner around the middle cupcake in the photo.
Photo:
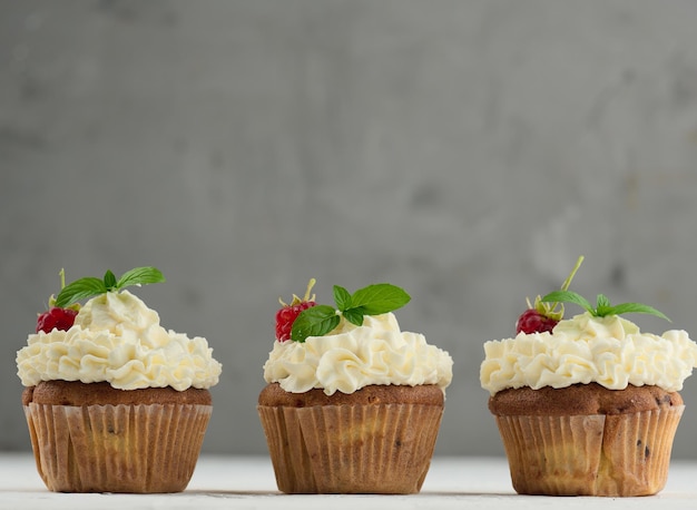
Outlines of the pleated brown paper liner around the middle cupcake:
[[257,409],[286,493],[419,492],[443,413],[422,404]]

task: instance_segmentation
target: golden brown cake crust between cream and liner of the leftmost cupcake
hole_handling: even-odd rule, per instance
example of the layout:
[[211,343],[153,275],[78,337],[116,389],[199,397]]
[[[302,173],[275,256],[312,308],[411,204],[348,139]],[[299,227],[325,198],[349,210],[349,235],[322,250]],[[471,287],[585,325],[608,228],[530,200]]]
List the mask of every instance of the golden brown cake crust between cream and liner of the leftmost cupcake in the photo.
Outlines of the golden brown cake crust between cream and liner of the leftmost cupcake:
[[140,390],[118,390],[108,382],[82,383],[79,381],[41,381],[22,392],[22,404],[29,402],[52,405],[118,405],[118,404],[202,404],[210,405],[208,390],[189,388],[177,391],[174,388],[145,388]]

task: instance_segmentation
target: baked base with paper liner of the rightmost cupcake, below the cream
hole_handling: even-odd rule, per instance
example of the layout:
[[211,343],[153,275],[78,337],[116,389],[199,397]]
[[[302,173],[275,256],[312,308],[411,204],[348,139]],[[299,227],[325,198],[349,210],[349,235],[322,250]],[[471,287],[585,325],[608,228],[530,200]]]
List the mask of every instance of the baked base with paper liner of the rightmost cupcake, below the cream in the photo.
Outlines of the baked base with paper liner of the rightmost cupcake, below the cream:
[[518,493],[630,497],[665,487],[685,406],[656,386],[579,384],[505,390],[490,409]]

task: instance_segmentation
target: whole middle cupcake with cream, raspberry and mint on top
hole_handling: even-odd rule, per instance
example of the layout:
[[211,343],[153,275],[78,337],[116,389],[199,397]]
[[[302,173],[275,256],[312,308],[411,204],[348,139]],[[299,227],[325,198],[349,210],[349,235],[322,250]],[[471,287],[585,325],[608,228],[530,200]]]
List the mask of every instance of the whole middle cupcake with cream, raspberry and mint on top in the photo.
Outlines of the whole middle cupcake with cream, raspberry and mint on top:
[[[410,301],[390,284],[336,308],[307,288],[276,314],[258,398],[278,489],[285,493],[415,493],[426,477],[452,379],[450,355],[400,331]],[[283,302],[282,302],[283,304]]]

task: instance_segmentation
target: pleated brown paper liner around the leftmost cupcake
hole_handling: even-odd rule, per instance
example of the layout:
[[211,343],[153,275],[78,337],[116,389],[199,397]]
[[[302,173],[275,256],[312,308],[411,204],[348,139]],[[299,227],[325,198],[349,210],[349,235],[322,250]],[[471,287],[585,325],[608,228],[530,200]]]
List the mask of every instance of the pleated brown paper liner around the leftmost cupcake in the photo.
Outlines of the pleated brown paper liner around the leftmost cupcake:
[[213,406],[24,406],[37,469],[57,492],[179,492]]

